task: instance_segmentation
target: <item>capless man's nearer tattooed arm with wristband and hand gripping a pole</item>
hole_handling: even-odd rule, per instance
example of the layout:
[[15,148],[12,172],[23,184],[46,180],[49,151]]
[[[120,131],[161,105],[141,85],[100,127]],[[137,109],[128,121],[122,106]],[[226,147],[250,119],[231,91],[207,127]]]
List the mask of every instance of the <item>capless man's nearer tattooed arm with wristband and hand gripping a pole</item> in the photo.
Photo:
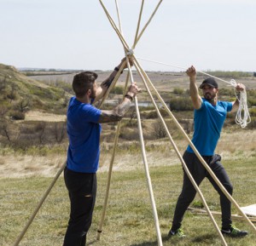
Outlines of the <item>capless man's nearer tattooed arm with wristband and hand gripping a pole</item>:
[[140,92],[136,83],[131,84],[127,93],[125,94],[124,100],[116,106],[113,110],[102,110],[102,115],[99,118],[99,123],[110,123],[110,122],[118,122],[124,117],[125,112],[131,106],[131,100],[133,97]]

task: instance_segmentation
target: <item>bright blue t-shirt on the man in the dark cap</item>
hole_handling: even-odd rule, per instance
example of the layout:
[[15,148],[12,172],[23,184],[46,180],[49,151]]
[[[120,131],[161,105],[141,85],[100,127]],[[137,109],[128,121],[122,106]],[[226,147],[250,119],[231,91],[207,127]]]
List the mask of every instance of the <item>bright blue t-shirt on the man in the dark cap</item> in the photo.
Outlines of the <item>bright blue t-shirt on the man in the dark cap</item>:
[[[231,102],[218,101],[216,106],[212,106],[202,98],[201,108],[194,111],[195,131],[192,139],[201,156],[214,154],[227,112],[231,110]],[[187,151],[194,153],[190,146]]]

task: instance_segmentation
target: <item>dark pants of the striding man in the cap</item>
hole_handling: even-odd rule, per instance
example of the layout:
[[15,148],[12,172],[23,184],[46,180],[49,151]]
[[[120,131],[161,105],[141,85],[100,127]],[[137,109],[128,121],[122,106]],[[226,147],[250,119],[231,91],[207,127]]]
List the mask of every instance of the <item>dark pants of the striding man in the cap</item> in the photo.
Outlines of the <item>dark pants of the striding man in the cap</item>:
[[[232,195],[233,186],[230,183],[228,174],[226,173],[223,165],[219,162],[221,157],[218,155],[214,156],[203,156],[206,163],[212,169],[212,172],[217,176],[218,180],[225,187],[227,192]],[[207,170],[202,165],[198,157],[194,153],[184,152],[183,160],[186,163],[189,172],[192,174],[196,184],[199,186],[201,181],[205,177],[212,183],[214,189],[218,192],[220,197],[220,206],[222,212],[222,226],[223,228],[228,228],[232,223],[231,217],[231,203],[230,200],[224,195],[220,190],[216,182],[212,179],[212,176],[208,174]],[[183,171],[183,190],[177,199],[176,209],[174,212],[174,217],[172,221],[172,230],[176,231],[181,227],[183,220],[183,215],[185,211],[189,208],[189,204],[194,200],[196,194],[195,187],[189,180],[188,175]]]

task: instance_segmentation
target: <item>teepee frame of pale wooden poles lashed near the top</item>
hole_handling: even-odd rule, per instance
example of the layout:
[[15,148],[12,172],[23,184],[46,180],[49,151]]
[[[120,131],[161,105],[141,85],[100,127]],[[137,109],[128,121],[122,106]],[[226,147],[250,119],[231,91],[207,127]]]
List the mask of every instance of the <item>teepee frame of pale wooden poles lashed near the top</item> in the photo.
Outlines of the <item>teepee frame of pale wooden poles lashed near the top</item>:
[[[157,4],[156,8],[154,9],[153,14],[151,14],[148,22],[146,23],[146,25],[143,27],[142,31],[139,32],[139,27],[140,27],[140,23],[141,23],[141,18],[142,18],[142,14],[143,14],[143,5],[144,5],[144,0],[142,0],[142,5],[141,5],[141,9],[140,9],[140,14],[139,14],[139,18],[138,18],[138,23],[137,23],[137,31],[136,31],[136,35],[135,35],[135,39],[134,39],[134,43],[130,49],[128,43],[126,43],[125,41],[125,37],[123,37],[122,34],[122,28],[121,28],[121,20],[120,20],[120,16],[119,16],[119,7],[118,7],[118,0],[115,0],[116,3],[116,9],[117,9],[117,13],[118,13],[118,18],[119,18],[119,28],[116,26],[116,24],[114,23],[111,15],[108,13],[108,9],[106,9],[105,5],[102,3],[102,0],[99,0],[101,5],[102,5],[102,9],[104,10],[105,14],[108,17],[108,20],[111,24],[111,26],[113,26],[113,30],[116,31],[119,40],[121,41],[121,43],[124,46],[125,49],[125,56],[126,56],[126,61],[123,62],[123,64],[121,65],[119,72],[117,72],[116,76],[113,79],[113,83],[111,83],[110,87],[108,88],[107,93],[105,94],[105,96],[102,98],[101,102],[99,103],[98,107],[101,107],[104,100],[108,97],[108,94],[110,92],[111,89],[113,89],[113,86],[115,85],[115,83],[118,81],[119,76],[121,74],[121,71],[124,69],[125,67],[125,62],[128,66],[128,71],[129,73],[127,74],[126,77],[126,83],[125,83],[125,90],[124,93],[126,91],[127,88],[127,84],[129,81],[129,78],[131,80],[131,83],[134,83],[133,80],[133,76],[132,76],[132,72],[131,72],[131,66],[128,60],[128,57],[131,56],[133,58],[134,61],[134,66],[137,69],[137,72],[139,73],[140,77],[142,78],[143,84],[145,86],[145,88],[147,89],[148,95],[150,96],[150,99],[154,105],[154,108],[157,112],[158,117],[160,118],[160,122],[163,124],[165,130],[166,130],[166,134],[169,138],[169,140],[172,143],[172,146],[175,150],[175,152],[177,153],[177,157],[180,159],[182,165],[183,165],[183,169],[186,172],[186,174],[189,177],[189,180],[191,181],[191,183],[193,184],[193,186],[195,187],[196,192],[198,192],[199,196],[201,197],[202,203],[204,204],[206,210],[207,210],[207,214],[209,215],[210,219],[212,220],[213,226],[216,228],[217,232],[218,232],[218,236],[220,237],[222,244],[224,246],[227,245],[227,243],[224,240],[224,237],[222,235],[222,233],[220,232],[218,225],[216,223],[216,221],[214,220],[212,213],[210,211],[210,209],[207,206],[207,202],[205,200],[205,198],[203,197],[203,194],[199,188],[199,186],[196,185],[195,180],[193,179],[192,175],[189,172],[189,169],[187,168],[186,164],[183,161],[183,157],[181,156],[180,152],[177,149],[176,144],[174,143],[173,139],[172,139],[172,135],[170,134],[169,130],[166,127],[166,123],[164,118],[161,116],[160,111],[158,109],[158,106],[156,105],[153,95],[150,92],[150,89],[148,88],[148,84],[150,85],[150,87],[153,89],[154,94],[156,94],[158,100],[160,100],[161,104],[164,106],[164,108],[166,109],[166,112],[169,114],[169,116],[172,118],[172,120],[174,121],[174,123],[177,125],[177,128],[181,130],[184,138],[188,141],[189,146],[191,146],[191,148],[193,149],[193,151],[195,152],[195,155],[199,158],[199,160],[201,161],[202,165],[207,169],[208,173],[212,176],[212,179],[215,180],[215,182],[217,183],[218,187],[221,189],[222,192],[224,192],[224,195],[230,200],[231,203],[233,203],[236,206],[236,209],[240,212],[242,218],[244,220],[247,221],[247,223],[253,228],[253,231],[256,232],[256,227],[253,225],[252,221],[248,219],[247,215],[244,214],[244,212],[241,210],[241,208],[239,207],[239,205],[236,203],[235,199],[233,197],[230,196],[230,193],[226,191],[226,189],[224,188],[224,186],[220,183],[220,181],[218,180],[218,178],[216,177],[216,175],[212,172],[212,169],[209,168],[209,166],[207,165],[207,163],[204,161],[204,159],[201,157],[200,153],[196,150],[195,146],[193,145],[193,143],[191,142],[191,140],[189,139],[189,136],[184,132],[182,126],[177,122],[177,119],[173,116],[172,112],[170,111],[170,109],[168,108],[168,106],[166,106],[165,101],[161,98],[160,94],[158,93],[158,91],[154,88],[154,84],[150,81],[147,73],[143,70],[143,67],[140,65],[140,63],[137,60],[136,55],[133,52],[133,49],[136,48],[136,45],[138,43],[138,41],[140,40],[140,38],[143,35],[143,32],[146,30],[146,28],[148,27],[148,24],[150,23],[150,21],[153,19],[154,14],[156,13],[157,9],[160,7],[160,3],[162,2],[162,0],[160,0],[160,2]],[[125,95],[123,95],[125,96]],[[145,172],[146,172],[146,177],[147,177],[147,181],[148,181],[148,192],[149,192],[149,196],[150,196],[150,200],[151,200],[151,205],[152,205],[152,209],[153,209],[153,214],[154,214],[154,226],[156,229],[156,233],[157,233],[157,239],[158,239],[158,245],[162,246],[162,238],[161,238],[161,234],[160,234],[160,225],[159,225],[159,220],[158,220],[158,215],[157,215],[157,209],[154,203],[154,193],[153,193],[153,189],[152,189],[152,185],[151,185],[151,179],[150,179],[150,174],[149,174],[149,170],[148,170],[148,161],[147,161],[147,156],[146,156],[146,151],[145,151],[145,145],[144,145],[144,140],[143,140],[143,129],[142,129],[142,124],[141,124],[141,119],[140,119],[140,112],[138,109],[138,103],[137,103],[137,97],[135,97],[135,106],[136,106],[136,113],[137,113],[137,124],[138,124],[138,131],[139,131],[139,139],[140,139],[140,143],[141,143],[141,148],[142,148],[142,154],[143,154],[143,163],[144,163],[144,168],[145,168]],[[106,215],[106,210],[107,210],[107,204],[108,204],[108,194],[109,194],[109,189],[110,189],[110,181],[111,181],[111,174],[112,174],[112,169],[113,169],[113,161],[114,161],[114,157],[115,157],[115,152],[116,152],[116,146],[118,143],[118,138],[119,138],[119,132],[120,132],[120,122],[118,123],[118,127],[116,130],[116,134],[115,134],[115,138],[114,138],[114,143],[113,143],[113,153],[112,153],[112,157],[111,157],[111,161],[109,164],[109,170],[108,170],[108,184],[107,184],[107,188],[106,188],[106,195],[105,195],[105,200],[104,200],[104,204],[103,204],[103,210],[102,210],[102,218],[100,221],[100,224],[98,226],[98,234],[97,234],[97,239],[100,239],[100,233],[102,232],[102,225],[103,225],[103,221]],[[20,235],[17,237],[14,246],[18,246],[21,239],[24,237],[28,227],[32,224],[32,220],[35,218],[35,216],[38,213],[38,210],[41,208],[41,206],[43,205],[46,197],[49,195],[49,192],[51,191],[51,189],[53,188],[53,186],[55,186],[55,182],[56,180],[59,178],[59,176],[61,175],[62,171],[65,169],[66,167],[66,163],[63,163],[61,169],[59,169],[59,171],[57,172],[57,174],[55,174],[55,178],[54,180],[51,182],[51,184],[49,185],[49,188],[46,190],[46,192],[44,193],[44,196],[41,198],[41,200],[39,201],[36,209],[33,211],[30,219],[27,221],[26,226],[23,228],[23,230],[20,232]]]

